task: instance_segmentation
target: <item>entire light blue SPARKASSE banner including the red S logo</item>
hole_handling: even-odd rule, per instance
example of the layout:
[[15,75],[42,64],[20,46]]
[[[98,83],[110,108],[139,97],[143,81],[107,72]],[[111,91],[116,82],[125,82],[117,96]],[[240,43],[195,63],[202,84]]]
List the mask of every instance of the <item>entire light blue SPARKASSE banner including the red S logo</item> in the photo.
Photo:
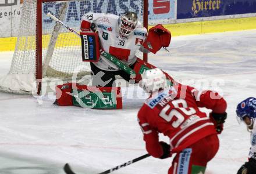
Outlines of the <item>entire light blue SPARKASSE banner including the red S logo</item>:
[[[148,20],[168,20],[175,19],[175,1],[176,0],[149,0]],[[46,14],[51,12],[58,17],[62,2],[43,3],[42,6],[42,27],[52,28],[55,22],[47,17]],[[122,14],[130,10],[140,13],[143,10],[141,0],[83,0],[71,1],[67,6],[67,15],[63,22],[70,27],[79,27],[81,17],[87,12],[94,13],[112,13]],[[140,15],[138,15],[140,16]],[[140,16],[142,21],[142,17]]]

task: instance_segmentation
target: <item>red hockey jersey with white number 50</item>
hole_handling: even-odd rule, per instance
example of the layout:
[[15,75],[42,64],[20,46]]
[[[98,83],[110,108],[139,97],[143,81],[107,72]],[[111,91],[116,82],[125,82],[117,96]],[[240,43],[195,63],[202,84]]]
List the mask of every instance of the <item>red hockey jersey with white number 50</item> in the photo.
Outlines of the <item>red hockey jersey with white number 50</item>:
[[172,153],[182,151],[208,135],[216,134],[214,123],[198,107],[224,113],[226,102],[216,92],[200,92],[181,84],[148,98],[138,112],[138,122],[148,153],[156,158],[163,154],[158,133],[169,137]]

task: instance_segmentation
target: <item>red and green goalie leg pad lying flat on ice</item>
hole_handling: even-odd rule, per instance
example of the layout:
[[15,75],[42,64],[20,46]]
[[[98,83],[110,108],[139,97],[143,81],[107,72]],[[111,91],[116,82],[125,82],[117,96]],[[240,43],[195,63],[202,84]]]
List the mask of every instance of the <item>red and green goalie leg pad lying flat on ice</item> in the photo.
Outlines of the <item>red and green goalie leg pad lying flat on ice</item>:
[[97,109],[122,108],[120,87],[95,87],[80,84],[56,86],[56,101],[59,106],[80,106]]

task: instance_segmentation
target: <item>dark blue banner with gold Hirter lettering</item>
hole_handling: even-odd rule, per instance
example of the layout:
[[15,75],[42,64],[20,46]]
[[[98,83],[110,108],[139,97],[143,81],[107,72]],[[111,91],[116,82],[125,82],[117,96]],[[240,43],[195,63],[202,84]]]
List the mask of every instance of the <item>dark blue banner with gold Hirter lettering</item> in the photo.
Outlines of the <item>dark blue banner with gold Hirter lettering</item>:
[[179,0],[177,19],[256,13],[256,0]]

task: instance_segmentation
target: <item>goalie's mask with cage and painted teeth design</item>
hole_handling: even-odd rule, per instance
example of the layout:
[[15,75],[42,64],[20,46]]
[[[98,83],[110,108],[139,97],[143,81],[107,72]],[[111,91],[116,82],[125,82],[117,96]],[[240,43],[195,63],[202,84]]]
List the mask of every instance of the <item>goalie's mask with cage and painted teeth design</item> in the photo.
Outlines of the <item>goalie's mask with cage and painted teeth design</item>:
[[138,21],[137,14],[126,12],[119,17],[119,36],[127,37],[136,28]]

